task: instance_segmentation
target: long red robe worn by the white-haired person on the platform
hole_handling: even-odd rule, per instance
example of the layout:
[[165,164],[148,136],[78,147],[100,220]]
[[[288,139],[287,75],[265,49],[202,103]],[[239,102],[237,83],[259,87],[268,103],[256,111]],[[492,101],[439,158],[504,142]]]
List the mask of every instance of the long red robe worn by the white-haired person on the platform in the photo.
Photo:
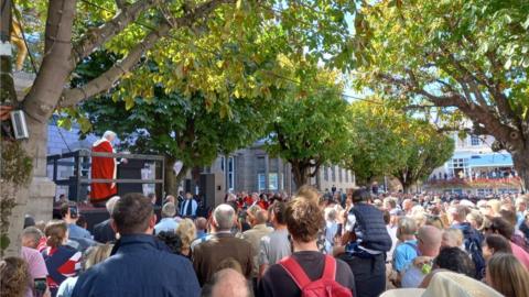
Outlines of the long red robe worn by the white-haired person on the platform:
[[[114,153],[112,145],[109,141],[98,141],[91,146],[91,152]],[[116,178],[116,160],[114,157],[91,157],[91,178]],[[118,194],[118,187],[115,183],[101,184],[91,183],[90,201],[99,202]]]

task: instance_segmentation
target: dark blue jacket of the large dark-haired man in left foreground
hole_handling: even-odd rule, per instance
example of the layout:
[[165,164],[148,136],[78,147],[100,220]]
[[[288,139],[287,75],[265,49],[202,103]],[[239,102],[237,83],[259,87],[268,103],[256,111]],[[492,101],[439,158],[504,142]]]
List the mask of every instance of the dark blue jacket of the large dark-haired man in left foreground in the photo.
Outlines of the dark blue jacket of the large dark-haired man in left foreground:
[[74,297],[192,297],[201,287],[191,262],[152,235],[125,235],[112,255],[79,276]]

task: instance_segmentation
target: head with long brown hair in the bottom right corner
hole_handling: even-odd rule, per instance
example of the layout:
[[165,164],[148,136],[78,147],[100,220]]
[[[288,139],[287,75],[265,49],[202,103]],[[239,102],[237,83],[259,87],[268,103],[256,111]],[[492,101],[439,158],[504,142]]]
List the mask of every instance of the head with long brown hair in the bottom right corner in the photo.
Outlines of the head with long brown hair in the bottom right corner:
[[494,254],[487,264],[485,282],[506,297],[529,296],[529,272],[512,254]]

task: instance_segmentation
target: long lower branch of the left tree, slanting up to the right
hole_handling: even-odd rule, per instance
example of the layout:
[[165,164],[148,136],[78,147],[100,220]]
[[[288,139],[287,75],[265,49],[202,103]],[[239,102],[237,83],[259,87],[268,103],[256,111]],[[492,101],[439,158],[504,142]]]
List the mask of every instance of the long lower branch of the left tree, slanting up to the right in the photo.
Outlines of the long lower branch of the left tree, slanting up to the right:
[[95,95],[110,89],[123,74],[129,72],[138,63],[147,51],[152,48],[161,37],[169,35],[173,25],[175,28],[191,26],[198,19],[206,16],[220,4],[233,2],[235,2],[235,0],[210,0],[193,11],[190,11],[186,15],[172,20],[171,24],[166,22],[160,24],[158,31],[149,33],[125,58],[117,62],[106,73],[82,87],[64,90],[62,101],[60,102],[61,107],[75,106],[82,100],[91,98]]

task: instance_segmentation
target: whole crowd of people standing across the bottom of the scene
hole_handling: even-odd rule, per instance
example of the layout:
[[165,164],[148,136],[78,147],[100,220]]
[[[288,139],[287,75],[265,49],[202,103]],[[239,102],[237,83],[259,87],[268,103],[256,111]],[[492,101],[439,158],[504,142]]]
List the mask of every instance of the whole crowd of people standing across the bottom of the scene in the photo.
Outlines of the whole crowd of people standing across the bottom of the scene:
[[529,296],[523,195],[304,186],[228,194],[212,211],[168,196],[161,218],[153,202],[112,197],[93,232],[69,204],[61,220],[28,217],[20,257],[0,263],[0,296]]

